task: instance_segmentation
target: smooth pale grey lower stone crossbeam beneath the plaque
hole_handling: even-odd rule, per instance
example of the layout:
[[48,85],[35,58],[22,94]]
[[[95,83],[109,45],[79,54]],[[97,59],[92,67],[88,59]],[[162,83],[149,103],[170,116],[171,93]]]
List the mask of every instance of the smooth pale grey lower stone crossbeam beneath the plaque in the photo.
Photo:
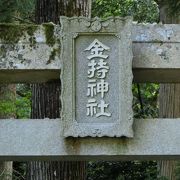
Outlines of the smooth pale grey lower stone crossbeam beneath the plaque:
[[180,119],[137,119],[132,139],[65,139],[60,119],[1,120],[0,160],[179,160],[179,126]]

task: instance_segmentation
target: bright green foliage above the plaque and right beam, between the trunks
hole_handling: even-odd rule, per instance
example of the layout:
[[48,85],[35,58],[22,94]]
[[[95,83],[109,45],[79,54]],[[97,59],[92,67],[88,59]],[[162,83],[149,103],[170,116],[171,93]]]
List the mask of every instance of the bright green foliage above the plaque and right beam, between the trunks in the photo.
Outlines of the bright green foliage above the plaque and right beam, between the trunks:
[[153,0],[96,0],[93,16],[133,16],[138,22],[156,22],[158,6]]

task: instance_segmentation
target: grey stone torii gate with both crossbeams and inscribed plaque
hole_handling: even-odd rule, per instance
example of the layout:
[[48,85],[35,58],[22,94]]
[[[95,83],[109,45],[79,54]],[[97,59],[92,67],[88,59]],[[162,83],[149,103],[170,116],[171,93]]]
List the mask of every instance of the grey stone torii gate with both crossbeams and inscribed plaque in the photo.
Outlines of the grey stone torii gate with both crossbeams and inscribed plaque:
[[[94,39],[96,41],[93,41]],[[90,44],[92,46],[89,46]],[[116,49],[116,45],[121,48]],[[87,51],[92,50],[92,47],[101,50],[93,49],[88,56]],[[94,79],[90,74],[92,71],[87,72],[86,69],[83,72],[87,64],[80,64],[90,60],[97,52],[104,58],[101,60],[104,69],[109,70],[104,71],[107,72],[109,80],[109,89],[106,87],[105,93],[116,89],[116,86],[111,88],[110,84],[115,77],[113,72],[119,73],[120,80],[126,78],[124,73],[130,76],[130,79],[125,79],[127,89],[120,93],[122,97],[126,97],[124,93],[128,91],[127,99],[119,98],[122,99],[121,104],[128,100],[127,107],[122,105],[123,110],[131,109],[131,69],[134,82],[180,82],[180,25],[137,24],[132,23],[129,18],[109,18],[102,21],[98,18],[82,17],[61,17],[61,26],[0,25],[1,83],[39,83],[62,76],[64,85],[61,97],[64,105],[62,119],[0,120],[0,160],[180,159],[180,119],[131,119],[127,123],[132,114],[123,114],[121,109],[120,114],[119,111],[115,113],[120,117],[120,122],[114,123],[111,122],[111,114],[116,110],[110,108],[109,114],[106,114],[111,116],[110,120],[103,117],[107,118],[106,122],[109,124],[104,124],[102,118],[98,119],[98,125],[94,125],[90,114],[85,112],[84,116],[83,112],[81,113],[84,106],[78,104],[78,93],[81,92],[80,96],[83,96],[84,91],[83,88],[78,88],[78,83],[92,83]],[[104,52],[109,54],[105,55]],[[121,64],[116,54],[120,55],[123,63],[127,60],[127,64]],[[120,70],[114,68],[110,62],[111,58],[115,59],[113,62]],[[109,67],[105,66],[106,60]],[[79,66],[80,70],[76,73]],[[86,72],[87,77],[82,80],[81,77],[84,77],[86,74],[83,73]],[[97,78],[104,82],[102,74],[97,75]],[[119,86],[118,91],[123,88],[121,83]],[[75,90],[71,91],[73,88]],[[111,96],[101,96],[107,98],[108,104],[111,105]],[[72,102],[67,101],[72,107],[66,102],[69,97],[72,97]],[[74,98],[78,101],[75,105]],[[114,102],[118,103],[115,100]],[[79,111],[74,115],[75,109],[78,108]],[[72,113],[69,114],[69,111]],[[74,119],[78,120],[74,122]]]

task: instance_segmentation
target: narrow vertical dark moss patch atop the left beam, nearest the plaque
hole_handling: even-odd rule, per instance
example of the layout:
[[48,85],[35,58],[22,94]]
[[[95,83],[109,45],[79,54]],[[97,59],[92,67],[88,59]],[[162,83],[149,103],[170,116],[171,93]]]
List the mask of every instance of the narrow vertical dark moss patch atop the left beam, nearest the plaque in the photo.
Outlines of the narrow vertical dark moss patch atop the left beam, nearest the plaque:
[[45,36],[46,36],[46,44],[49,46],[53,46],[56,42],[54,37],[54,25],[47,23],[43,24],[44,30],[45,30]]

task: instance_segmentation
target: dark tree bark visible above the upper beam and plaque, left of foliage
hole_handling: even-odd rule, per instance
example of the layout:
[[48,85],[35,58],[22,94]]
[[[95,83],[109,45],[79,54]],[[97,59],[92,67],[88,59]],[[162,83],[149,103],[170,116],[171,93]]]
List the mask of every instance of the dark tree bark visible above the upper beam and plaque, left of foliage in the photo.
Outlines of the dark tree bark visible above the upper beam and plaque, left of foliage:
[[36,22],[58,23],[59,16],[91,16],[91,0],[37,0]]

